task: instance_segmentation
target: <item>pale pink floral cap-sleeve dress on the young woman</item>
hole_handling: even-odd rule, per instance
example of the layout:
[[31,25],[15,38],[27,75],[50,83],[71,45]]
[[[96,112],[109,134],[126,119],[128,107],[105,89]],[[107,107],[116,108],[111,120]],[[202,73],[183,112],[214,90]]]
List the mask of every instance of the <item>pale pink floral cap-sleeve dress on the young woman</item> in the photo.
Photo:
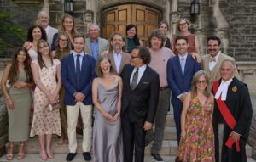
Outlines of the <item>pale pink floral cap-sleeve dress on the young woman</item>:
[[[38,74],[40,81],[50,92],[55,91],[57,86],[56,71],[58,59],[53,59],[53,65],[48,68],[40,69],[38,60],[33,60],[32,64],[38,65]],[[35,135],[56,134],[61,136],[61,118],[59,109],[49,111],[49,99],[38,87],[34,92],[34,115],[32,120],[32,128],[30,137]]]

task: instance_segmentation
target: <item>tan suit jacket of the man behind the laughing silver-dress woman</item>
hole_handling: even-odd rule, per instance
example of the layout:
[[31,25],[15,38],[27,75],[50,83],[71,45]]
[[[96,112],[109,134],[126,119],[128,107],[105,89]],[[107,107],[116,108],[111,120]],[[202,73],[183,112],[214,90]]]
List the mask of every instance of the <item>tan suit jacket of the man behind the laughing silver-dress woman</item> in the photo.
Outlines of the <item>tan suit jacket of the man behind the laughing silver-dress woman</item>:
[[114,72],[116,73],[116,75],[120,75],[125,64],[130,64],[131,62],[131,55],[128,54],[128,53],[122,53],[122,59],[121,59],[121,63],[120,63],[120,67],[119,67],[119,72],[116,71],[116,65],[115,65],[115,62],[114,62],[114,59],[113,59],[113,53],[112,52],[109,52],[108,53],[108,57],[111,61],[111,65],[113,67],[113,70]]

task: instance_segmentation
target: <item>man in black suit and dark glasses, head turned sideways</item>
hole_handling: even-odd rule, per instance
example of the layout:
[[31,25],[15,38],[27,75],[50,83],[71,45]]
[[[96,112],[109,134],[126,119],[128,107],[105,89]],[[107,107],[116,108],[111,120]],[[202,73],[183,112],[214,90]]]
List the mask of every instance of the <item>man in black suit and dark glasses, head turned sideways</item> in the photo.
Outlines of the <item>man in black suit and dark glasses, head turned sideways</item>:
[[134,47],[131,64],[122,70],[123,95],[121,120],[124,141],[124,161],[144,161],[146,131],[152,128],[159,97],[159,75],[148,67],[150,53],[147,47]]

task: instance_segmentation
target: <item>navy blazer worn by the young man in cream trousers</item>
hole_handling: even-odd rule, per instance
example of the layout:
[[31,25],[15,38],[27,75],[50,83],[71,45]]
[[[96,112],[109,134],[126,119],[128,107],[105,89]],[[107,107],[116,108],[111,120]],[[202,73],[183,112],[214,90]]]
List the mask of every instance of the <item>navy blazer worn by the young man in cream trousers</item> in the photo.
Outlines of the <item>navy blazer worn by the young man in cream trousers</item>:
[[73,53],[67,55],[61,60],[61,81],[65,88],[64,103],[67,105],[75,105],[75,92],[82,92],[85,96],[84,105],[92,104],[91,87],[92,81],[96,76],[96,62],[93,57],[84,53],[81,67],[81,76],[79,87],[76,87],[75,65]]

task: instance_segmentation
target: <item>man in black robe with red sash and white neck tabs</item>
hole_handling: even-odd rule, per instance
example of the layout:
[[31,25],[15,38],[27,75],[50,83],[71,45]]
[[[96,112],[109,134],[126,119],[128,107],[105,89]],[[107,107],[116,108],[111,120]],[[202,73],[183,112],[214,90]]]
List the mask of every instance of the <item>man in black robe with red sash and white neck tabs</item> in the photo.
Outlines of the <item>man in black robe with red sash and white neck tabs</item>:
[[[246,143],[252,120],[252,104],[247,85],[234,76],[236,65],[225,59],[220,67],[221,79],[213,82],[215,103],[213,130],[215,158],[221,162],[246,162]],[[218,135],[223,133],[223,137]],[[219,141],[223,141],[221,160]]]

